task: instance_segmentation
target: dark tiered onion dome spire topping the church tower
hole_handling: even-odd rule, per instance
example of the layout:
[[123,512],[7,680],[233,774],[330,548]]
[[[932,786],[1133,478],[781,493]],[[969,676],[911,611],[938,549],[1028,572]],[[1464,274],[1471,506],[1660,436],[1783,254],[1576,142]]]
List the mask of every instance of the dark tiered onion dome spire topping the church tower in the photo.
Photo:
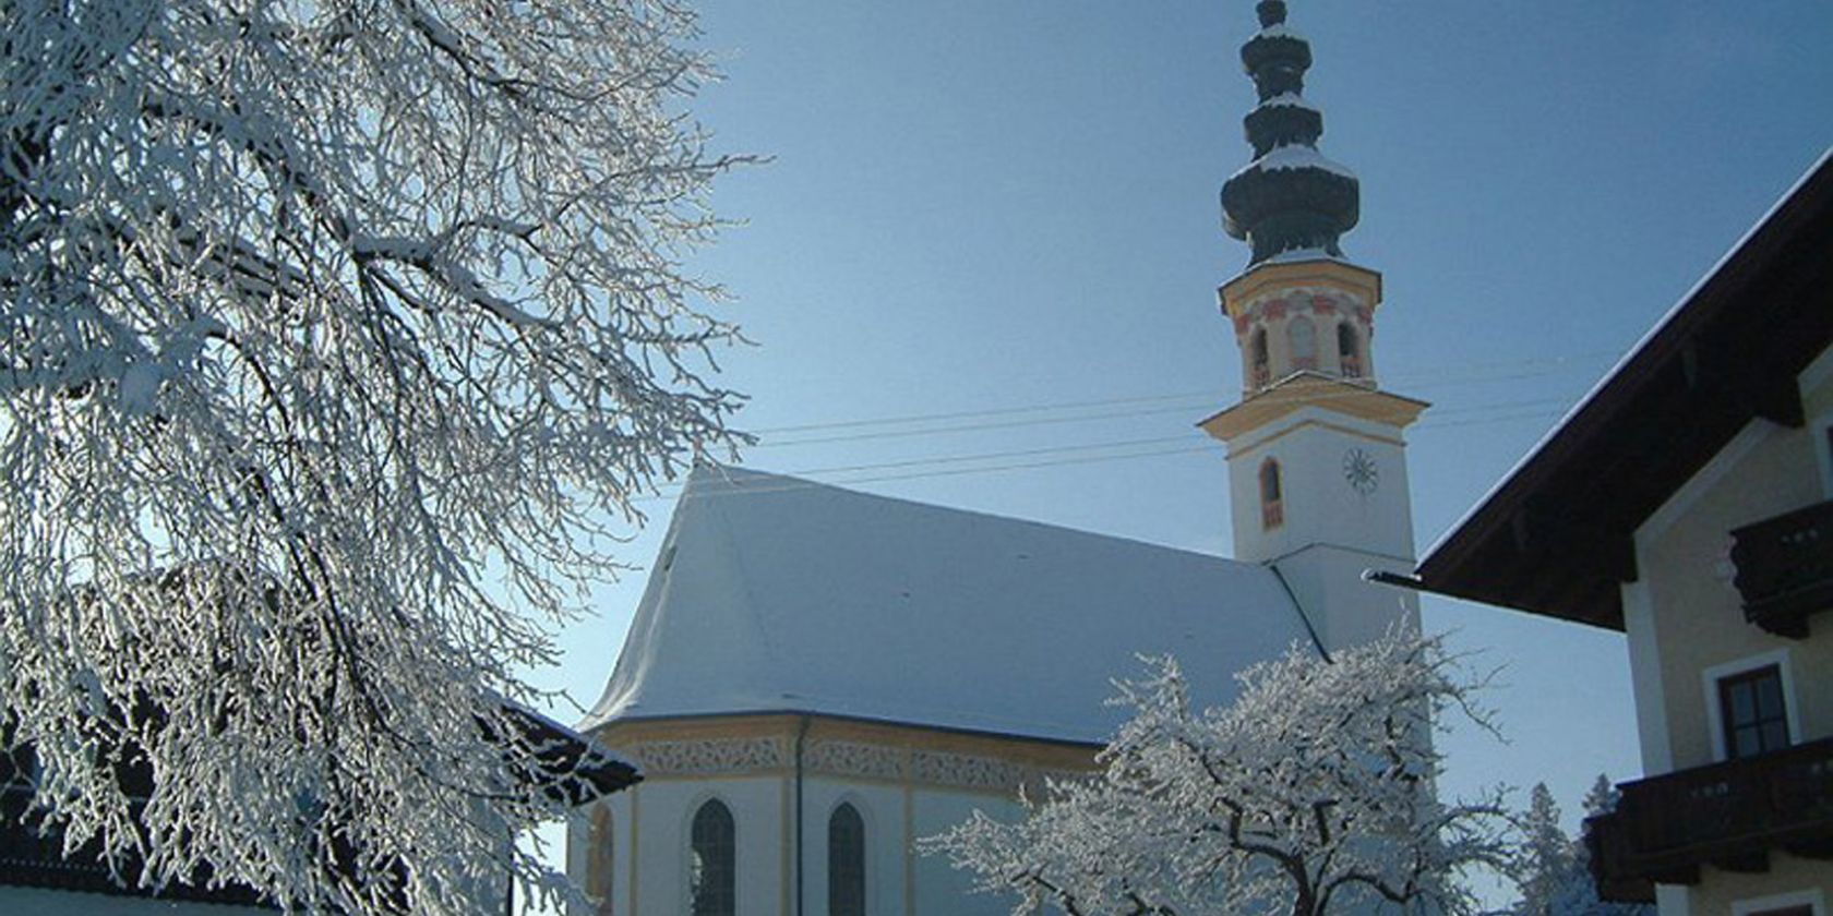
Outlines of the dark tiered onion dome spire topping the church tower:
[[1323,114],[1305,92],[1311,44],[1285,26],[1285,2],[1261,0],[1261,31],[1241,46],[1259,104],[1243,125],[1254,161],[1223,183],[1223,229],[1254,247],[1248,266],[1287,251],[1342,256],[1336,240],[1362,214],[1355,172],[1318,152]]

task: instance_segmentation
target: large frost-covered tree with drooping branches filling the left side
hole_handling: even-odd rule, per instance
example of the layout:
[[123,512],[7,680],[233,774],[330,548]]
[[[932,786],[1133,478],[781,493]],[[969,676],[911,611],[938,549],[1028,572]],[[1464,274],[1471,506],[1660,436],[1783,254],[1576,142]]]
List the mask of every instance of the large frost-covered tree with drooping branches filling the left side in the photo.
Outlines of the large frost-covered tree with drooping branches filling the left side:
[[731,165],[693,42],[675,0],[0,0],[0,735],[71,846],[290,909],[557,892],[500,711],[739,403],[680,269]]

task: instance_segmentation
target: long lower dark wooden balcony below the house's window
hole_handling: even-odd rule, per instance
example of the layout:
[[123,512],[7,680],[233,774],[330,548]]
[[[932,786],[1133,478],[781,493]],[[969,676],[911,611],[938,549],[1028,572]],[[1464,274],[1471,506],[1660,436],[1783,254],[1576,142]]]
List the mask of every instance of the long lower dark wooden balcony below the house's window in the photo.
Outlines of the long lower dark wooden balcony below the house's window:
[[1617,812],[1586,821],[1606,900],[1652,901],[1705,865],[1767,872],[1774,852],[1833,859],[1833,738],[1619,788]]

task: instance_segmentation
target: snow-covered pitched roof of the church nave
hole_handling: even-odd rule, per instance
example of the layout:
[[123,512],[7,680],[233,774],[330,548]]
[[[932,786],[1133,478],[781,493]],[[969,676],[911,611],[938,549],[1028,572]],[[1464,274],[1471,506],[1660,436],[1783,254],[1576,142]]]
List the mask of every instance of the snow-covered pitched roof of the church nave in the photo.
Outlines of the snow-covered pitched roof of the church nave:
[[1136,654],[1175,654],[1210,705],[1294,641],[1265,566],[702,465],[585,727],[814,713],[1096,744]]

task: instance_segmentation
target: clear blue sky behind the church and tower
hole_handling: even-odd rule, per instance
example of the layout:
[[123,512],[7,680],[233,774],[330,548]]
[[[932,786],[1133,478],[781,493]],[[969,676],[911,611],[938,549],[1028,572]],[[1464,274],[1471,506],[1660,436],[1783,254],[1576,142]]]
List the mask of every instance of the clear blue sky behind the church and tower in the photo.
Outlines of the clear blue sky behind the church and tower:
[[[1228,553],[1193,423],[1239,396],[1217,191],[1248,161],[1252,4],[698,5],[728,79],[693,112],[774,158],[719,183],[744,225],[693,258],[757,343],[720,354],[763,434],[744,462]],[[1322,148],[1362,178],[1344,247],[1386,277],[1380,381],[1435,405],[1421,551],[1833,143],[1820,0],[1292,0],[1290,24]],[[671,504],[645,507],[640,564]],[[539,680],[590,705],[640,590],[601,590]],[[1510,744],[1454,735],[1446,791],[1545,780],[1571,810],[1639,773],[1620,636],[1443,599],[1426,623],[1503,669]]]

